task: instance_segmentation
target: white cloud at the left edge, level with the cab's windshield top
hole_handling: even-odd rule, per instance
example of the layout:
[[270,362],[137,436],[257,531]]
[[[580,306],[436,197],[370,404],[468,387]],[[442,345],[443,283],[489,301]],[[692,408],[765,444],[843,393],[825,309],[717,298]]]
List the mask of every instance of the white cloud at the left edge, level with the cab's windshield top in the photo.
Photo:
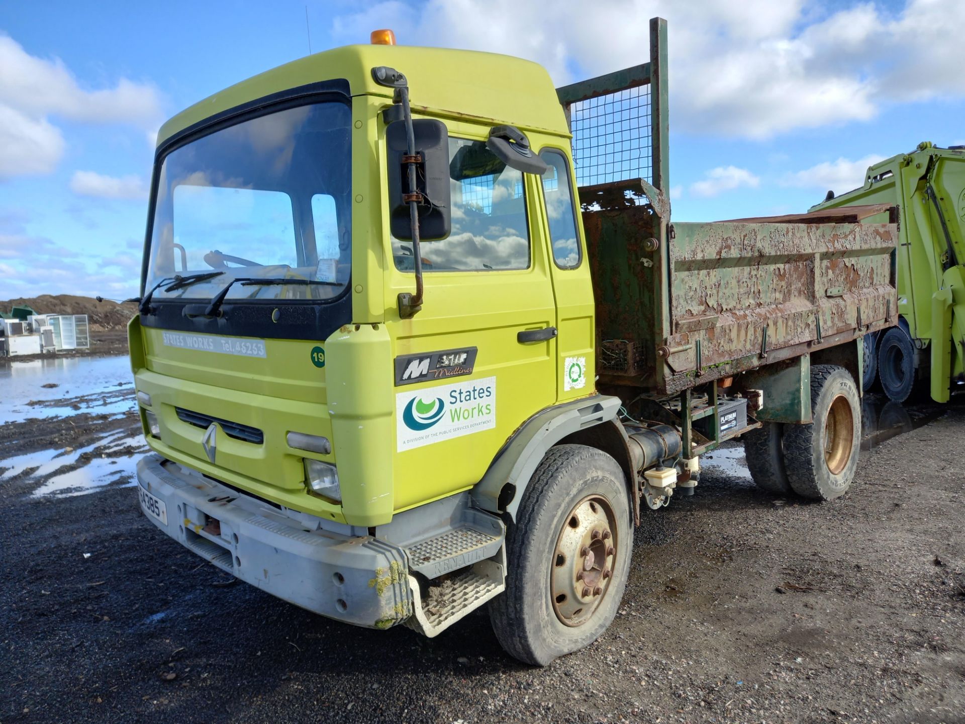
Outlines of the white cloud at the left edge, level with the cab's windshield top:
[[121,78],[85,89],[60,59],[38,58],[0,35],[0,179],[53,171],[66,144],[51,117],[133,125],[150,138],[161,115],[161,95],[150,83]]

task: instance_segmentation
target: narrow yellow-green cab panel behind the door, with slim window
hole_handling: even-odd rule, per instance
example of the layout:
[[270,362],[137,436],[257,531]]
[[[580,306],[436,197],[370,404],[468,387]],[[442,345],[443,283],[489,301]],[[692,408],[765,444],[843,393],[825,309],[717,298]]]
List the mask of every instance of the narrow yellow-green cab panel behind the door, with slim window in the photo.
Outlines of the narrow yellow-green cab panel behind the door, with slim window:
[[539,156],[549,167],[538,186],[559,329],[557,397],[565,402],[595,392],[593,281],[569,154],[546,147]]

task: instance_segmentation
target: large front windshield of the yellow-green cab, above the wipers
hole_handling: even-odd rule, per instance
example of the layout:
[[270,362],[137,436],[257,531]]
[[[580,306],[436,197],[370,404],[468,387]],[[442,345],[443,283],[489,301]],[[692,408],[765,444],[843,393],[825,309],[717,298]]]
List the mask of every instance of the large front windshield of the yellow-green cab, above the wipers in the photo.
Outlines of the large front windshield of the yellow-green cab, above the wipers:
[[[145,290],[211,275],[153,299],[333,299],[351,268],[351,158],[345,103],[302,105],[208,134],[161,166]],[[305,281],[318,282],[305,284]]]

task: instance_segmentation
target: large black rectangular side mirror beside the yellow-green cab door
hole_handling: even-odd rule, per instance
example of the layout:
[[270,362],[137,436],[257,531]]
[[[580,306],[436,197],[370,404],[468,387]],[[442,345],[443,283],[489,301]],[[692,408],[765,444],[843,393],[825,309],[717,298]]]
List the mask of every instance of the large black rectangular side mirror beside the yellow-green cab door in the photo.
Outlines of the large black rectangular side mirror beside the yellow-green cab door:
[[[414,119],[416,188],[419,200],[419,237],[441,241],[453,229],[452,190],[449,185],[449,130],[441,121]],[[389,228],[400,241],[412,240],[407,179],[405,122],[393,121],[385,129],[389,163]]]

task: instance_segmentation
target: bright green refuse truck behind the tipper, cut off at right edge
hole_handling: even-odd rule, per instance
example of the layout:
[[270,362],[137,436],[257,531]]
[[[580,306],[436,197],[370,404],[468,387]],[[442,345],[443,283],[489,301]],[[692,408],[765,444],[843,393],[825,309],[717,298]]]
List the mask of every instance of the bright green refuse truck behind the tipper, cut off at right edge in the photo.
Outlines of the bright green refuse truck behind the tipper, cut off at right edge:
[[829,191],[811,210],[868,204],[899,209],[900,320],[865,338],[865,384],[877,375],[897,403],[916,388],[946,403],[965,390],[965,146],[925,141],[871,166],[861,188],[837,197]]

